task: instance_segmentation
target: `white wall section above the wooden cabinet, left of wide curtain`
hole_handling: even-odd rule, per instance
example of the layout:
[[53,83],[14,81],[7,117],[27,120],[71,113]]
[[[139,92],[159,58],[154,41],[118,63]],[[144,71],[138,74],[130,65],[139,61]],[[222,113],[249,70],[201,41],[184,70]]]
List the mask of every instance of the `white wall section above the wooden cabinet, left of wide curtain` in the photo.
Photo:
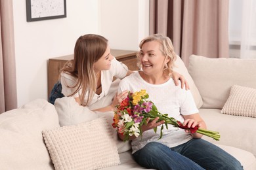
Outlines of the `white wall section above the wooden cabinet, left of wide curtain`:
[[101,33],[110,47],[138,50],[139,42],[148,36],[148,0],[102,0]]

